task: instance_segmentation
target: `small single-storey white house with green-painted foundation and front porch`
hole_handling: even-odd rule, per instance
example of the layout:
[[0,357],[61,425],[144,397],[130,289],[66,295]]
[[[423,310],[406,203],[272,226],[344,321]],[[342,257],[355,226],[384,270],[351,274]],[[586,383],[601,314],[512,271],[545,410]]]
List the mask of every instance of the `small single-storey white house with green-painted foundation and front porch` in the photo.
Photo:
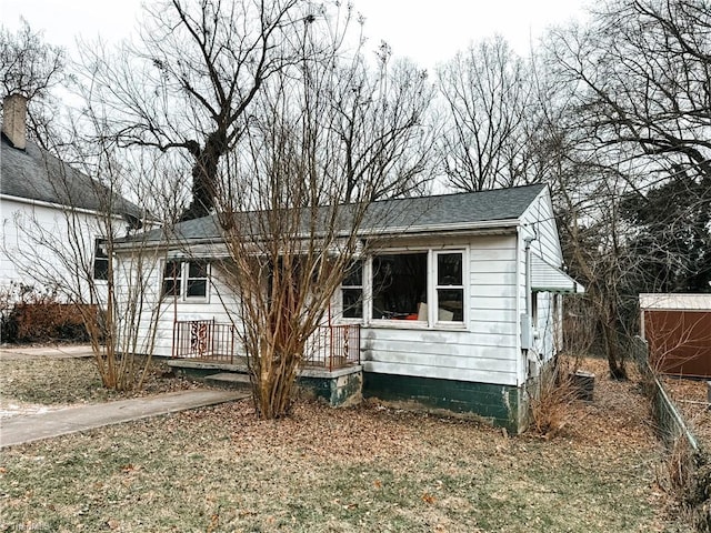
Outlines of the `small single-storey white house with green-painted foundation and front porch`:
[[[154,294],[172,294],[143,332],[158,355],[239,355],[226,312],[239,299],[216,268],[220,234],[214,217],[182,222],[170,238],[154,232],[163,258]],[[311,344],[326,359],[308,353],[307,362],[339,379],[358,372],[365,398],[524,428],[529,395],[559,348],[560,296],[583,291],[561,270],[548,187],[374,202],[360,237],[359,268]]]

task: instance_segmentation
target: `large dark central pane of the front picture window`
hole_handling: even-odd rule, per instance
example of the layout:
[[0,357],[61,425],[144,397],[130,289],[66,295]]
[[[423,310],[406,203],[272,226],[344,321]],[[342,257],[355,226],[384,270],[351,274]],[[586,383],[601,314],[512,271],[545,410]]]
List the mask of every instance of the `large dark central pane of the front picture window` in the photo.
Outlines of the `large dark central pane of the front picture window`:
[[427,321],[428,252],[373,258],[372,318]]

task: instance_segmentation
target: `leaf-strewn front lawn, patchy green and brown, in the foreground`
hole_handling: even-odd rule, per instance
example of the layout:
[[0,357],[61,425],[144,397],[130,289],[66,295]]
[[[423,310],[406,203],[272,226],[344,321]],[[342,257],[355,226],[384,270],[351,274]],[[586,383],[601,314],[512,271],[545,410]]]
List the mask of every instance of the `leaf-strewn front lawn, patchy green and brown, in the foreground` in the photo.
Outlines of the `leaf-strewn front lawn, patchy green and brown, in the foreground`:
[[568,421],[545,440],[377,403],[300,401],[289,419],[258,421],[236,402],[3,451],[0,527],[689,531],[657,484],[660,450],[634,383],[599,375],[595,401],[575,402]]

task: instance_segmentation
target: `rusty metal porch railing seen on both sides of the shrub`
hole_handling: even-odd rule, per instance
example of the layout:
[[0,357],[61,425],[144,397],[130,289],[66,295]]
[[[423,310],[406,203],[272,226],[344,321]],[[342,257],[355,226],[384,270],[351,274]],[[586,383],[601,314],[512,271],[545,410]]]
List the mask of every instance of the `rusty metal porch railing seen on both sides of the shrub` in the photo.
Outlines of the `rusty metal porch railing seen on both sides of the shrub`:
[[[239,356],[237,328],[214,320],[177,321],[172,356],[234,364]],[[360,326],[323,325],[307,341],[303,362],[328,371],[360,363]]]

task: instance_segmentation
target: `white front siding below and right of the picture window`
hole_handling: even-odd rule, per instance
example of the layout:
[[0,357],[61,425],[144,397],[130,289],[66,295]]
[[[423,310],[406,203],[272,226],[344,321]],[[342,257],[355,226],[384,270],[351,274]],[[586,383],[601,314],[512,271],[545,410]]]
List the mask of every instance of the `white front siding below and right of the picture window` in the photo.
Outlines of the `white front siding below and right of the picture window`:
[[373,321],[361,330],[363,370],[515,385],[520,352],[515,244],[513,233],[469,238],[463,326]]

